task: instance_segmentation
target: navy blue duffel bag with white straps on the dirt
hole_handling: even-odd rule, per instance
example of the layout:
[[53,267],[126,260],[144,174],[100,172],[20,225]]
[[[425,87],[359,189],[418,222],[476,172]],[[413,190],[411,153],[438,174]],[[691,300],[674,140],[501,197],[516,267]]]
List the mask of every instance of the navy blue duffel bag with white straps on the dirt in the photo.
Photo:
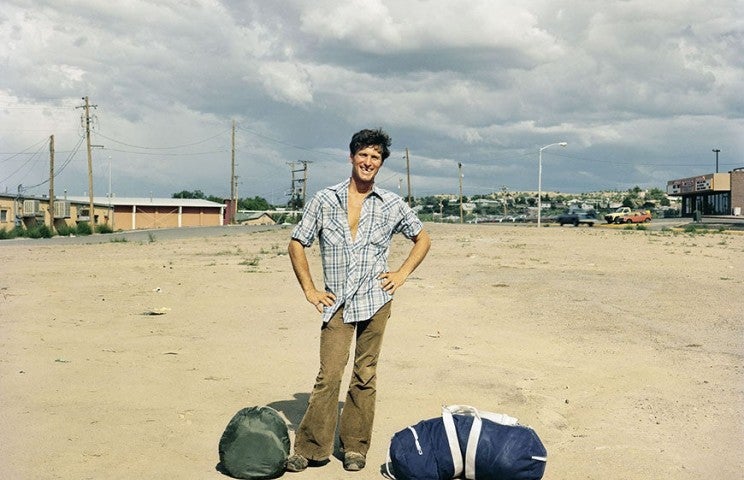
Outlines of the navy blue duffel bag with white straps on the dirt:
[[547,452],[516,418],[466,405],[405,428],[390,442],[387,473],[396,480],[540,480]]

